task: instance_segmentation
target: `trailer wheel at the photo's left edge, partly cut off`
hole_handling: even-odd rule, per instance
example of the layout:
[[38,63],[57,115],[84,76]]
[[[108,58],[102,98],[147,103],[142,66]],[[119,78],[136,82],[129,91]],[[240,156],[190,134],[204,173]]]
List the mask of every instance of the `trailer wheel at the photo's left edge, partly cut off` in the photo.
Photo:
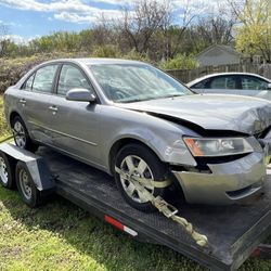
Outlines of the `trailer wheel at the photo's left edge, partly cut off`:
[[15,162],[0,152],[0,184],[5,189],[15,188]]

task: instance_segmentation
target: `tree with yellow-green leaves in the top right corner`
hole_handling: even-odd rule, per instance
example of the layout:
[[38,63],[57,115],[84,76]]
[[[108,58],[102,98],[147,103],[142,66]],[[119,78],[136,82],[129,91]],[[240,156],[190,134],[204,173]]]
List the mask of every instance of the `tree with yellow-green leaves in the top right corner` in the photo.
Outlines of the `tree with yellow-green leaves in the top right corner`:
[[241,26],[236,28],[236,48],[250,56],[261,53],[271,63],[271,2],[270,0],[246,0],[242,9],[230,2]]

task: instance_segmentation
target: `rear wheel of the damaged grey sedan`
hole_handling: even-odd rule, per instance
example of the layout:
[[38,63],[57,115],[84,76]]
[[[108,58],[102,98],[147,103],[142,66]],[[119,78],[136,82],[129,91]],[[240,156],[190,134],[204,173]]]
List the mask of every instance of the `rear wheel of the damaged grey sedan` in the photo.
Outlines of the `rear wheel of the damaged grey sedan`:
[[38,145],[31,141],[26,126],[20,116],[16,116],[12,119],[11,128],[15,144],[18,147],[30,152],[36,152],[38,150]]

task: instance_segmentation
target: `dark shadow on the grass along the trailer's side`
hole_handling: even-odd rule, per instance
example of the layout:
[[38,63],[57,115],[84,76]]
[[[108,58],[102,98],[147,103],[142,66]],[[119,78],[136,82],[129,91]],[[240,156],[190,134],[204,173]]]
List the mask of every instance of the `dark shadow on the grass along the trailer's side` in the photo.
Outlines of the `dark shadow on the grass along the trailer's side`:
[[16,192],[0,192],[5,195],[1,199],[12,218],[27,230],[52,232],[106,270],[204,270],[171,249],[132,240],[60,196],[30,209]]

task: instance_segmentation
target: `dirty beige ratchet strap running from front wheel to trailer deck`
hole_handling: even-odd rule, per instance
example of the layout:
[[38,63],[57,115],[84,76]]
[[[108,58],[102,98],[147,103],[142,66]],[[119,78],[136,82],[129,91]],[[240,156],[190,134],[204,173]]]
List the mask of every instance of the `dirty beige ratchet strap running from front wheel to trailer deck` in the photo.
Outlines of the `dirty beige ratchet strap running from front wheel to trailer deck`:
[[[178,212],[178,209],[168,204],[166,201],[164,201],[160,196],[154,196],[151,192],[149,192],[145,188],[144,184],[146,183],[150,186],[151,180],[145,179],[145,178],[138,178],[134,176],[130,176],[129,173],[125,172],[118,167],[115,167],[116,172],[122,177],[126,180],[129,180],[130,182],[133,183],[138,192],[141,194],[141,198],[145,199],[146,202],[151,202],[152,205],[157,208],[165,217],[172,219],[180,225],[182,225],[185,231],[190,234],[190,236],[196,242],[198,246],[206,246],[208,243],[207,236],[196,232],[192,225],[185,218],[176,216]],[[159,183],[157,181],[153,181],[155,184]],[[144,183],[144,184],[143,184]],[[146,186],[147,186],[146,185]],[[167,185],[168,186],[168,185]],[[164,186],[166,188],[166,186]]]

